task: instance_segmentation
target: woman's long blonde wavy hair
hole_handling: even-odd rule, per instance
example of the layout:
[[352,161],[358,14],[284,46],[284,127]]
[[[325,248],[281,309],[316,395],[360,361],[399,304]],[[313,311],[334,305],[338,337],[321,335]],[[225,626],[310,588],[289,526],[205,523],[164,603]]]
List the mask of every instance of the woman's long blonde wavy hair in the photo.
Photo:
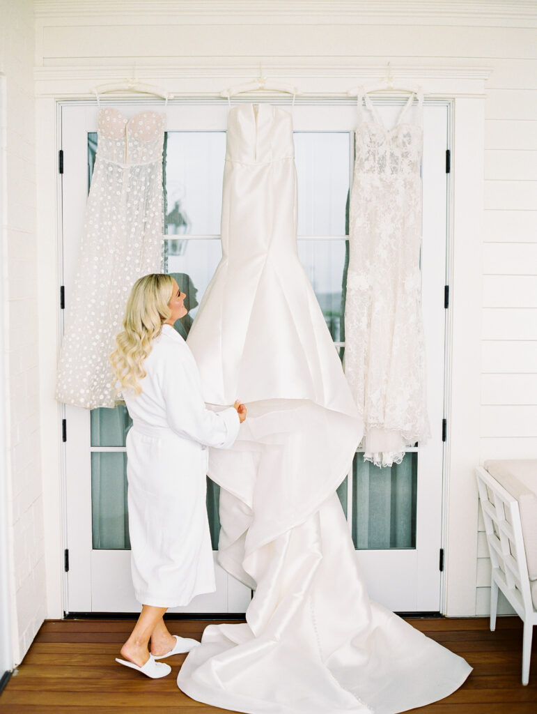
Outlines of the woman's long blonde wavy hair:
[[150,273],[134,283],[128,296],[123,330],[116,336],[116,349],[110,356],[119,382],[118,392],[132,390],[140,394],[142,391],[139,381],[145,377],[143,361],[151,351],[151,342],[160,335],[163,323],[171,315],[168,303],[172,293],[170,275]]

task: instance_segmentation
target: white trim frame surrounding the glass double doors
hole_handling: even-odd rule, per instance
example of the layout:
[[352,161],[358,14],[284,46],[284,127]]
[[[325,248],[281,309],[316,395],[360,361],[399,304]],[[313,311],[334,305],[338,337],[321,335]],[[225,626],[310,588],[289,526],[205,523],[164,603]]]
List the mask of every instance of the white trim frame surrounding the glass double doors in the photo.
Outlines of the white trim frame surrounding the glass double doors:
[[[215,86],[225,84],[223,72],[206,66],[165,70],[155,66],[138,67],[144,81],[159,84],[166,78],[169,91],[182,101],[215,97]],[[238,74],[236,72],[238,71]],[[237,76],[255,72],[249,60],[241,61]],[[108,74],[107,74],[108,73]],[[230,74],[230,71],[227,72]],[[380,79],[384,65],[367,69],[361,66],[330,66],[326,59],[312,58],[305,68],[292,61],[277,69],[282,81],[299,81],[303,96],[332,101],[345,96],[357,77],[367,81]],[[454,104],[452,146],[454,157],[453,201],[449,222],[453,236],[451,283],[452,334],[451,381],[447,478],[444,508],[446,512],[446,571],[441,613],[449,617],[471,617],[476,613],[477,492],[474,467],[480,463],[480,383],[481,373],[481,240],[484,220],[484,106],[485,85],[491,69],[485,64],[473,66],[422,66],[411,68],[408,78],[426,86],[427,96]],[[53,384],[58,360],[60,324],[58,321],[58,109],[62,103],[94,103],[92,88],[99,81],[118,78],[101,66],[90,64],[81,70],[47,66],[36,70],[36,226],[39,257],[39,385],[41,394],[40,436],[44,480],[44,538],[46,560],[47,616],[63,614],[63,547],[65,527],[62,500],[61,420]],[[227,76],[227,75],[226,75]],[[234,75],[235,76],[235,75]],[[406,74],[402,75],[402,80]],[[195,92],[195,95],[193,94]]]

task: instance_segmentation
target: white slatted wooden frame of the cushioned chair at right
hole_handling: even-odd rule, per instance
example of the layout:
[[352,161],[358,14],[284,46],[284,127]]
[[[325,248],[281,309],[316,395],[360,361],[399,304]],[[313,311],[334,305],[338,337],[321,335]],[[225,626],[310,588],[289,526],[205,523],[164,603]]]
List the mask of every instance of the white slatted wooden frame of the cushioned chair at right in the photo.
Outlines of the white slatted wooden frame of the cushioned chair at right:
[[531,599],[518,501],[483,467],[476,468],[476,477],[492,565],[491,631],[496,629],[499,588],[524,623],[522,683],[528,684],[537,610]]

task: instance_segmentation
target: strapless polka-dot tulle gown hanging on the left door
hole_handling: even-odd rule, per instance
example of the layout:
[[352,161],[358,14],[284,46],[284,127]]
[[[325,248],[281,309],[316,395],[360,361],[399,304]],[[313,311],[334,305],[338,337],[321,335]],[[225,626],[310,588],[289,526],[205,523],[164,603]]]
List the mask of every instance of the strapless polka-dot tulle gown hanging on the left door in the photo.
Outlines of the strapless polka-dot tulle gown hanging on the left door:
[[99,109],[98,146],[58,366],[56,398],[113,407],[108,357],[133,283],[162,272],[164,115]]

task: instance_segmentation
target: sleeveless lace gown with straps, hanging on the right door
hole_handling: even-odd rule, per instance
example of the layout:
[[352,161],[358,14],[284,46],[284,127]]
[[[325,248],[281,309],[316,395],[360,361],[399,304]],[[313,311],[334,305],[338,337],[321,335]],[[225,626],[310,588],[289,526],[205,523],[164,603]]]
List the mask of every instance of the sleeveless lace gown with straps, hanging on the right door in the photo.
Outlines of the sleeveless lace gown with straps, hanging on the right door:
[[[406,446],[429,438],[421,316],[423,131],[408,114],[393,129],[359,121],[349,216],[344,371],[364,420],[364,459],[401,463]],[[362,97],[359,97],[362,120]]]

